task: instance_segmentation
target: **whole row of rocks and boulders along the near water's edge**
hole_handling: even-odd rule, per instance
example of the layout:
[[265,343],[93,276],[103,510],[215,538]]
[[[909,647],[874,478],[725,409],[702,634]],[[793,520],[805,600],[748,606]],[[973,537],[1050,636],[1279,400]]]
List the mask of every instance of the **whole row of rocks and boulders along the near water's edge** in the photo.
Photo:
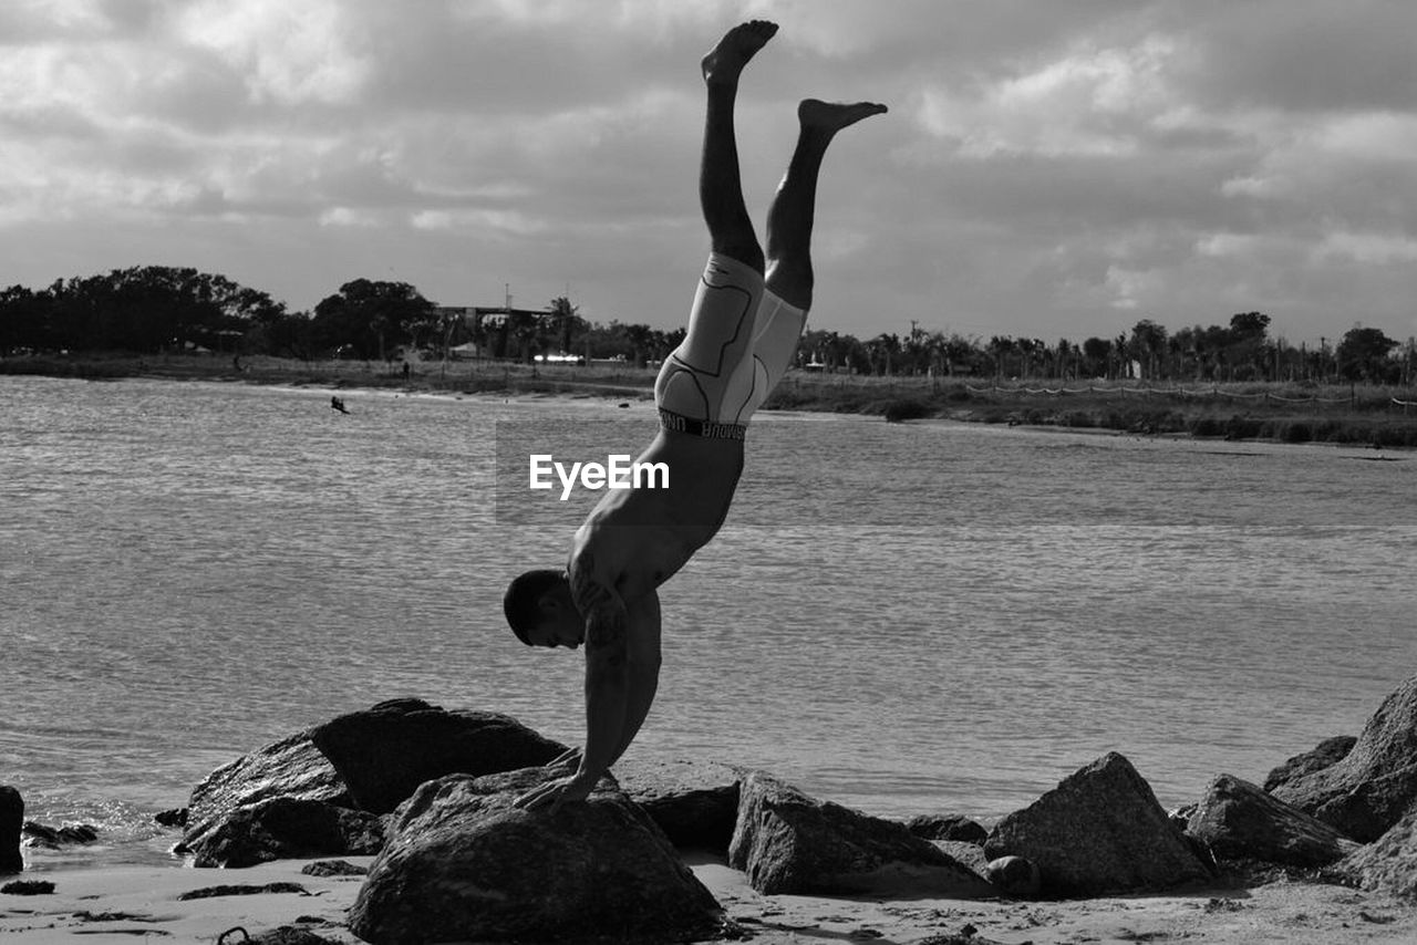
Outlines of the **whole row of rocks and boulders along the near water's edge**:
[[[555,813],[513,808],[564,751],[507,715],[394,700],[218,768],[163,820],[196,867],[366,859],[367,876],[350,867],[360,888],[347,911],[320,935],[374,944],[761,935],[699,878],[704,864],[730,873],[741,890],[730,898],[768,901],[1066,910],[1281,883],[1417,905],[1417,676],[1357,737],[1319,742],[1263,786],[1221,774],[1168,812],[1110,752],[988,829],[948,813],[873,817],[769,772],[687,761],[622,764]],[[23,870],[21,842],[91,839],[24,822],[18,791],[0,788],[0,871]],[[0,919],[26,881],[0,888]],[[1403,915],[1417,928],[1417,911]]]

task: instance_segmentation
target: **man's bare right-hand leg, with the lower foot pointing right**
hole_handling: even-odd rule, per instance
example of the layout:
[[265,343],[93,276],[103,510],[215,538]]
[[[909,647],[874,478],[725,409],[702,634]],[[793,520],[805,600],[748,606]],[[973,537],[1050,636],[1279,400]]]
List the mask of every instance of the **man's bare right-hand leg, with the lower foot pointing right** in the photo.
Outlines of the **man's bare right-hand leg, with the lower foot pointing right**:
[[768,210],[767,286],[802,312],[812,307],[812,217],[822,157],[839,130],[884,111],[874,102],[798,105],[796,149]]

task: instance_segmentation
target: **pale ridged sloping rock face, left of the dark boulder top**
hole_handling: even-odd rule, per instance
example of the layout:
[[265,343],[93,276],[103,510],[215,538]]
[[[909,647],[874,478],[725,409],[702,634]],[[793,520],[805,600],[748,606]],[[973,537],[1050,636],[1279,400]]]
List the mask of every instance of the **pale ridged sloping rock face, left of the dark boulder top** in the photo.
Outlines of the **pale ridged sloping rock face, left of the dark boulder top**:
[[296,732],[217,768],[191,792],[187,805],[188,836],[204,822],[271,798],[324,800],[351,806],[344,781],[329,758],[310,742],[309,731]]

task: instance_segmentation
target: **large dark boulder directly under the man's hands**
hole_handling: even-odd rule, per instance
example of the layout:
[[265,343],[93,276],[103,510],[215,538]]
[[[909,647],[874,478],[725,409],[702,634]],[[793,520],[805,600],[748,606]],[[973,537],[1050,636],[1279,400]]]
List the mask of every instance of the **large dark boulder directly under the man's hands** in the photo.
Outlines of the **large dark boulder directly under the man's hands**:
[[422,785],[394,815],[350,929],[374,945],[676,942],[718,932],[713,895],[612,779],[555,813],[513,808],[546,776],[529,769]]

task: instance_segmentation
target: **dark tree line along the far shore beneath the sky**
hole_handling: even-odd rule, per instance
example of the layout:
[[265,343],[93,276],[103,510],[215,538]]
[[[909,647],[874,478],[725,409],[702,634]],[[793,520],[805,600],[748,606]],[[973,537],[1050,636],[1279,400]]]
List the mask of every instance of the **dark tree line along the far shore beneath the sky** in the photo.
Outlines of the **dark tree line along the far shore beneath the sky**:
[[[487,309],[480,310],[487,313]],[[928,374],[996,380],[1136,378],[1145,381],[1350,380],[1411,384],[1417,341],[1355,324],[1318,347],[1270,336],[1263,312],[1233,315],[1227,324],[1168,332],[1142,319],[1115,337],[1081,343],[992,336],[988,340],[927,332],[881,333],[867,340],[809,330],[798,366],[853,374]],[[570,299],[546,310],[468,317],[444,309],[405,282],[354,279],[313,312],[288,312],[268,293],[191,268],[133,266],[106,275],[55,281],[45,289],[0,290],[0,354],[52,351],[160,353],[205,350],[315,360],[391,360],[414,350],[446,357],[475,346],[497,358],[531,363],[567,354],[581,361],[618,358],[646,364],[683,340],[646,324],[591,323]]]

